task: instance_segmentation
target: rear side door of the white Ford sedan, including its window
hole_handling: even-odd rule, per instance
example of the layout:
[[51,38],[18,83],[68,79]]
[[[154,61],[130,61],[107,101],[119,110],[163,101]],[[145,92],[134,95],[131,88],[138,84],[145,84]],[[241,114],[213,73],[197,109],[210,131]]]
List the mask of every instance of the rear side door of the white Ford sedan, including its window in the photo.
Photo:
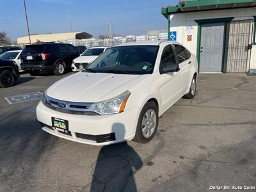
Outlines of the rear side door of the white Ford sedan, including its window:
[[[188,89],[188,84],[191,81],[191,79],[189,79],[189,66],[191,66],[191,60],[189,60],[189,58],[191,57],[191,54],[182,45],[173,44],[173,47],[179,61],[180,74],[182,76],[181,93],[183,94]],[[189,55],[187,52],[189,53]]]

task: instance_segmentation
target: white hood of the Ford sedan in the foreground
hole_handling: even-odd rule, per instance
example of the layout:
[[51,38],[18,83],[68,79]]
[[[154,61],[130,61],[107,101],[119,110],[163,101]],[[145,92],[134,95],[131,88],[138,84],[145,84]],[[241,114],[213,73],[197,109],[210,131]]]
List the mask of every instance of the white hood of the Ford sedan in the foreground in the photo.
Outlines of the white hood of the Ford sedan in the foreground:
[[146,75],[78,72],[52,84],[47,95],[71,102],[99,102],[131,89],[149,77]]

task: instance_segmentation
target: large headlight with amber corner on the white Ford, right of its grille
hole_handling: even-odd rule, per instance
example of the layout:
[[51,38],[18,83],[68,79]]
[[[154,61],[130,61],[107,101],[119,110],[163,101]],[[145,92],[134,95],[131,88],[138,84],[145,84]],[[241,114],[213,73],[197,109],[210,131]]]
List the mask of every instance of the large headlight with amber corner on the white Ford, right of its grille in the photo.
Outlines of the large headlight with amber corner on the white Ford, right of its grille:
[[130,95],[131,93],[129,91],[126,91],[112,99],[95,102],[92,105],[91,111],[99,113],[99,115],[122,113],[125,109],[125,104]]

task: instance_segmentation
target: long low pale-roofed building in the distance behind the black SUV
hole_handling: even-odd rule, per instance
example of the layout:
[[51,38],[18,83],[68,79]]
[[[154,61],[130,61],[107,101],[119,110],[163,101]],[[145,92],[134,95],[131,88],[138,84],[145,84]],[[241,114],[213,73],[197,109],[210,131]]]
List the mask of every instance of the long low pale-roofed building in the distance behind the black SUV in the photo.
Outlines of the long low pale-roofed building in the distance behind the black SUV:
[[[30,35],[31,44],[37,42],[63,42],[65,40],[81,40],[84,38],[92,38],[92,35],[86,32],[72,32],[72,33],[51,33],[42,35]],[[21,36],[17,38],[17,44],[29,44],[29,36]]]

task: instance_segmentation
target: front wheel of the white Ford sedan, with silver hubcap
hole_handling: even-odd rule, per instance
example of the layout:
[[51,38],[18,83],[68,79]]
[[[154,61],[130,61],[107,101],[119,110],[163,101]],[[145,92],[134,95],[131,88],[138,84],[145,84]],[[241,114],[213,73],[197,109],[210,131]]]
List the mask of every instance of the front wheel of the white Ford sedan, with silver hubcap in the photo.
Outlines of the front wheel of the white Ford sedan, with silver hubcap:
[[148,143],[151,141],[158,127],[158,109],[155,102],[147,102],[141,110],[134,141]]

